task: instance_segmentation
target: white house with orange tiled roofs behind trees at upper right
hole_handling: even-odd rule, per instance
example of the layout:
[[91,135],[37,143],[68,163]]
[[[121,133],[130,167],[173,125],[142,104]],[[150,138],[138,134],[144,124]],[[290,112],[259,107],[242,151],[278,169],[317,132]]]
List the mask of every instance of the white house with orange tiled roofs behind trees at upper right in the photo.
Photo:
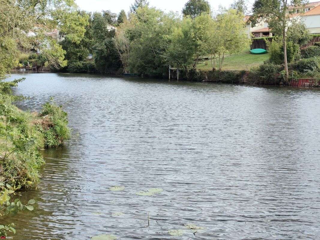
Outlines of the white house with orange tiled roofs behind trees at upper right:
[[[320,1],[303,4],[300,6],[289,5],[289,11],[293,12],[292,17],[297,17],[301,22],[305,23],[310,34],[320,34]],[[250,16],[245,16],[244,20],[248,21]],[[248,38],[272,36],[268,23],[260,21],[256,26],[247,25],[246,33]]]

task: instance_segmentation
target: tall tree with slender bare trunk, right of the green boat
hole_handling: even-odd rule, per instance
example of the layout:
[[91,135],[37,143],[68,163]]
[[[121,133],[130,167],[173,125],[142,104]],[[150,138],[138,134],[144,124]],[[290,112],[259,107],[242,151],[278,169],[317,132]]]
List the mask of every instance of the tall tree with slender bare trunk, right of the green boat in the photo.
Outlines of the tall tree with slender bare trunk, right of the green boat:
[[[306,3],[305,0],[291,0],[294,6],[301,6]],[[282,36],[284,49],[284,69],[286,80],[289,78],[286,36],[287,28],[292,21],[291,11],[289,11],[288,0],[255,0],[253,4],[253,15],[250,18],[254,26],[260,19],[268,22],[269,28],[278,36]]]

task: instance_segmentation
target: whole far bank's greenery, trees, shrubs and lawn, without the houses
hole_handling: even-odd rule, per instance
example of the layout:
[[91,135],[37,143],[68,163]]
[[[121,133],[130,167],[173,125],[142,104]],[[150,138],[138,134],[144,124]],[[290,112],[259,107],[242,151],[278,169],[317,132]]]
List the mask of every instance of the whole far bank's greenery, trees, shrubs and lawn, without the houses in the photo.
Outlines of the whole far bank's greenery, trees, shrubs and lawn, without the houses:
[[[301,3],[293,1],[293,4]],[[312,36],[299,21],[283,16],[282,6],[281,1],[269,6],[268,1],[257,0],[249,22],[244,21],[246,5],[241,0],[229,9],[220,8],[214,16],[204,0],[188,1],[182,9],[183,15],[165,13],[142,0],[132,4],[128,15],[124,11],[82,12],[89,19],[84,38],[80,43],[68,39],[60,43],[68,60],[61,70],[167,78],[171,67],[172,77],[188,80],[208,78],[203,70],[249,71],[250,83],[288,84],[292,77],[317,79],[318,68],[309,65],[317,61],[319,46],[306,47]],[[271,13],[282,17],[269,16]],[[254,25],[260,17],[266,18],[276,36],[261,39],[268,54],[252,55],[245,26]],[[305,60],[310,58],[316,59]],[[260,71],[264,69],[260,65],[264,64],[271,71],[268,77],[266,71]],[[278,71],[274,72],[275,69]],[[266,81],[271,75],[273,80]]]

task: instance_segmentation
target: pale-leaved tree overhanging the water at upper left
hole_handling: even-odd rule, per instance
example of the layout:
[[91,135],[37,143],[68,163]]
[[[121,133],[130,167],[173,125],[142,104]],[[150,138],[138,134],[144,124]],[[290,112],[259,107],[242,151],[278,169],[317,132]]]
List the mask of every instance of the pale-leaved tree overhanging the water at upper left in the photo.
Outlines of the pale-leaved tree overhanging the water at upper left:
[[0,6],[0,51],[6,53],[0,57],[2,73],[17,63],[21,52],[32,49],[43,50],[52,66],[65,66],[65,51],[45,33],[58,29],[79,43],[88,24],[74,0],[0,0]]

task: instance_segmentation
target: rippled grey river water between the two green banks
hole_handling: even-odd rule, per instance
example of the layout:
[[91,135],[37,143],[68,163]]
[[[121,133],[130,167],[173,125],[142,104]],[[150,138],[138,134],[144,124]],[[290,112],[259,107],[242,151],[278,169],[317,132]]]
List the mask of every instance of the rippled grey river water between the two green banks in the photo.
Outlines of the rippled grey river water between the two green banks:
[[[52,96],[73,133],[43,151],[38,188],[20,196],[35,199],[35,211],[8,220],[15,240],[319,239],[319,90],[60,73],[10,79],[22,76],[14,93],[30,100],[18,106],[39,110]],[[135,194],[149,188],[164,191]]]

